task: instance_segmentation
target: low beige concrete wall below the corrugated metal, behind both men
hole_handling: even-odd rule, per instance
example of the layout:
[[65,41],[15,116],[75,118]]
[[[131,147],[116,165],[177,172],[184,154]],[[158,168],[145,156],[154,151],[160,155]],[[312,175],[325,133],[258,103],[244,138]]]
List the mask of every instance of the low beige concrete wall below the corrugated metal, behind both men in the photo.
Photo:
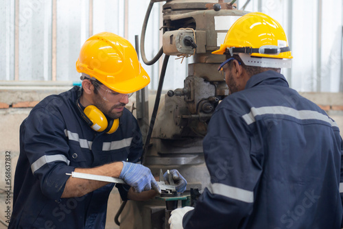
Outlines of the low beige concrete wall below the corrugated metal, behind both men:
[[[43,89],[44,88],[44,89]],[[19,156],[19,127],[21,122],[32,107],[41,99],[51,93],[60,93],[70,88],[68,87],[43,87],[43,88],[12,88],[8,90],[0,89],[0,209],[6,209],[8,204],[5,204],[7,194],[5,188],[8,184],[5,183],[5,162],[6,155],[11,158],[11,173],[12,186],[14,178],[14,169],[16,167],[16,160]],[[343,94],[342,93],[301,93],[311,101],[321,106],[333,118],[343,130]],[[150,101],[150,104],[154,104]],[[131,104],[128,104],[132,106]],[[342,134],[341,134],[342,135]],[[8,158],[8,156],[7,156]],[[12,203],[12,200],[11,200]],[[115,225],[113,218],[117,213],[120,205],[120,197],[117,189],[113,190],[108,202],[108,222],[106,228],[119,228]],[[12,210],[12,206],[10,206]],[[5,221],[5,213],[0,214],[0,221]],[[6,228],[0,224],[0,229]]]

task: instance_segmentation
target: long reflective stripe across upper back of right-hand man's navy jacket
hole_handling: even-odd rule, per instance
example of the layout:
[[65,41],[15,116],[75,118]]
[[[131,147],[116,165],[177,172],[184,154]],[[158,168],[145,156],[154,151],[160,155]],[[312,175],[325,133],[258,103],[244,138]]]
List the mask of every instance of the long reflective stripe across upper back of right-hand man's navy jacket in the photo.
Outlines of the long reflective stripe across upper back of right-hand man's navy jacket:
[[300,120],[316,119],[325,121],[331,126],[338,127],[335,121],[326,115],[321,114],[320,112],[314,110],[295,110],[293,108],[288,108],[287,106],[263,106],[261,108],[251,108],[250,112],[246,115],[243,115],[242,118],[248,125],[250,125],[256,121],[255,117],[258,115],[288,115]]

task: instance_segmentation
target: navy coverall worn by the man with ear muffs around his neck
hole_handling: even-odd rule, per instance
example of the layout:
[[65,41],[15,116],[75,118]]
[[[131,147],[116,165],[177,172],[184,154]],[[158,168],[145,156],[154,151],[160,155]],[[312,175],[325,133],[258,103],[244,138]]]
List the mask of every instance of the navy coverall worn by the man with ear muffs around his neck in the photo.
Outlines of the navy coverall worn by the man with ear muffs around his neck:
[[[60,198],[76,167],[138,162],[143,147],[137,120],[127,109],[113,134],[95,132],[75,102],[79,87],[40,101],[23,121],[21,152],[14,178],[14,208],[9,228],[104,228],[107,184],[82,197]],[[126,200],[129,186],[117,184]]]

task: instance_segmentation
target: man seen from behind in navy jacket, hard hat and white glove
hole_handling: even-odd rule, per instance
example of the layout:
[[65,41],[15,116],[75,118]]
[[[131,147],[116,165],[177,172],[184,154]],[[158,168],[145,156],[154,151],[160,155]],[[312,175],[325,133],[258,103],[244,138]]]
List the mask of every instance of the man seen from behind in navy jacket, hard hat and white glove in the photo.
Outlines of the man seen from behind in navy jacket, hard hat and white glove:
[[171,228],[341,228],[340,130],[281,75],[292,59],[281,25],[241,16],[213,53],[226,55],[230,95],[203,142],[211,184],[171,213]]

